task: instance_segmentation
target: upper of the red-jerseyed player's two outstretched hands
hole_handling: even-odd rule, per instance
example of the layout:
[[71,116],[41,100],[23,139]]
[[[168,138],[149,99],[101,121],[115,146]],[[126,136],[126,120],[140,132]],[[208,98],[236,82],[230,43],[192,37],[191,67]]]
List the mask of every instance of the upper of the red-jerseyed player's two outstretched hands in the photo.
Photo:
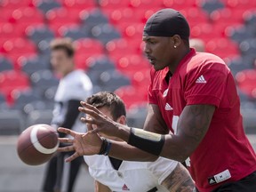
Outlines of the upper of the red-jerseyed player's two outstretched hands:
[[83,106],[78,108],[79,111],[89,115],[90,117],[82,117],[81,121],[85,124],[93,124],[93,130],[90,132],[101,132],[108,136],[116,136],[118,131],[118,124],[110,119],[108,116],[105,116],[97,108],[92,105],[85,103],[84,101],[80,102]]

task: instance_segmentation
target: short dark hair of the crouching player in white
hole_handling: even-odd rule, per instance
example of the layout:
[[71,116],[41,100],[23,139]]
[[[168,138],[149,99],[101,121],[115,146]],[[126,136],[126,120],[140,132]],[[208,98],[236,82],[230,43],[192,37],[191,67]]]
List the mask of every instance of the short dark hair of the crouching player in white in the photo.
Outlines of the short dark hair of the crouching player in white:
[[120,116],[126,116],[124,101],[114,92],[98,92],[92,94],[92,96],[87,98],[86,102],[96,108],[109,108],[114,121]]

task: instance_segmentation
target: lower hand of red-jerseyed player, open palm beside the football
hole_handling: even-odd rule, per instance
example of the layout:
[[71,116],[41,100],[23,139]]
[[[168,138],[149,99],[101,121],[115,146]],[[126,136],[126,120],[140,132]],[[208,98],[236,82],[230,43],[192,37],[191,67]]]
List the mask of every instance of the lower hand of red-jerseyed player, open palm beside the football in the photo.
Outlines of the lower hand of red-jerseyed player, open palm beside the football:
[[91,156],[96,155],[100,152],[102,140],[99,134],[90,132],[92,131],[92,124],[87,124],[89,132],[80,133],[72,130],[60,127],[59,132],[63,132],[71,135],[74,139],[70,138],[59,138],[62,143],[69,143],[70,146],[58,148],[59,152],[75,151],[72,156],[69,156],[65,161],[71,162],[78,156]]

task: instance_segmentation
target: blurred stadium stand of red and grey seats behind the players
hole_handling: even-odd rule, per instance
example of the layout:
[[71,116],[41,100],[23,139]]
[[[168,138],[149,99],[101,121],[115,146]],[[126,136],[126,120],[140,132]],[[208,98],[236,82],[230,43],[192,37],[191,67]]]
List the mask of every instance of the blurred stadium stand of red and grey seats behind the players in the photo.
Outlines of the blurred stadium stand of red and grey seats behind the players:
[[[2,0],[0,119],[5,125],[0,134],[17,134],[29,124],[51,121],[59,81],[52,73],[49,43],[61,36],[76,40],[76,68],[92,78],[94,92],[116,91],[126,102],[132,124],[142,124],[150,68],[142,52],[142,30],[148,17],[164,7],[180,10],[188,18],[191,37],[201,38],[206,52],[227,61],[236,76],[246,127],[255,125],[250,115],[256,113],[255,1]],[[21,100],[17,90],[37,92],[38,98]],[[7,117],[12,112],[19,118]]]

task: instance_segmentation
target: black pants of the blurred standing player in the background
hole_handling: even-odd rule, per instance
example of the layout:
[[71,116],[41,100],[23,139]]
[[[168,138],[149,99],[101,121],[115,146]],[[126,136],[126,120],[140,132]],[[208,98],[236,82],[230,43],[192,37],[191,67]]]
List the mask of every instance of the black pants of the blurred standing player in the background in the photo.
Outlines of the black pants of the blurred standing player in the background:
[[[65,163],[65,158],[67,156],[71,156],[72,154],[73,153],[58,153],[56,156],[53,156],[52,159],[49,161],[44,177],[44,192],[60,191],[63,185],[67,186],[67,188],[65,188],[65,192],[73,191],[76,176],[79,172],[81,164],[83,164],[84,162],[84,158],[83,156],[79,156],[71,163]],[[68,172],[68,180],[63,180],[64,164],[69,164],[69,170],[66,170]]]

